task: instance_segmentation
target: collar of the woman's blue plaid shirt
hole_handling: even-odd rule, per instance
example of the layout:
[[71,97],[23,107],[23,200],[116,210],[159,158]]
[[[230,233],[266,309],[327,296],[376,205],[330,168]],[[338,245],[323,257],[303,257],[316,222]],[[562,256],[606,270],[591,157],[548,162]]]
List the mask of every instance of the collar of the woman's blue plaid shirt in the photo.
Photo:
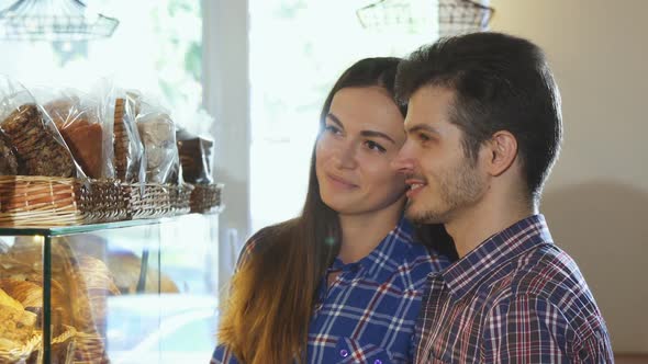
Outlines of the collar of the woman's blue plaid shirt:
[[402,264],[404,255],[413,244],[413,225],[402,216],[398,225],[367,257],[349,264],[344,264],[336,258],[331,269],[355,270],[362,272],[365,278],[380,282],[383,275],[391,275]]

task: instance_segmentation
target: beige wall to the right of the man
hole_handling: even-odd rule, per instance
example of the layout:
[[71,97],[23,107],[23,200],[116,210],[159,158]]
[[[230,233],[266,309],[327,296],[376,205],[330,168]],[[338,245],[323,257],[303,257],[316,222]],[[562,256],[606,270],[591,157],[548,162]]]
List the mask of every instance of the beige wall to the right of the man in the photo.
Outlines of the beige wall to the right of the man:
[[547,53],[565,144],[541,211],[616,352],[648,352],[648,1],[491,0],[491,30]]

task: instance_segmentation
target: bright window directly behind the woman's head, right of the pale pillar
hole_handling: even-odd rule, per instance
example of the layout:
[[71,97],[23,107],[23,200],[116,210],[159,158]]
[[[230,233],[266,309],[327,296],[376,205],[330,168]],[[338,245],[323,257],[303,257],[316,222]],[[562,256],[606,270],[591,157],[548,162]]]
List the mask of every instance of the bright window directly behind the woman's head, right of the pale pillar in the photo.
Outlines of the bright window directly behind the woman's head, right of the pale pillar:
[[359,11],[376,2],[249,1],[253,231],[299,214],[319,114],[342,71],[435,41],[436,1]]

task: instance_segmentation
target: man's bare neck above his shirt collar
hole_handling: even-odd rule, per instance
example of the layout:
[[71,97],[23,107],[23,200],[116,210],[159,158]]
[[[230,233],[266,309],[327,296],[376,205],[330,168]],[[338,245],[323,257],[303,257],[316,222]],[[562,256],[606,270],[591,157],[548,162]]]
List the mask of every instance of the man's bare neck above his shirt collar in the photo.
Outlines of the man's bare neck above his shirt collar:
[[455,241],[459,258],[463,258],[488,238],[534,214],[537,211],[529,206],[481,203],[457,212],[446,224],[446,230]]

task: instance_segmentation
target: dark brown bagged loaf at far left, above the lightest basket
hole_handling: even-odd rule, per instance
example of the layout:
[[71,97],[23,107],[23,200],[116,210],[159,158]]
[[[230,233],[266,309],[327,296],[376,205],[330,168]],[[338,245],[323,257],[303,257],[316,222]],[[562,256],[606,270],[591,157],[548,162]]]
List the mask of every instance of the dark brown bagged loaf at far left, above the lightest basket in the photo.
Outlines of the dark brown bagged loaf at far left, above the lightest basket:
[[74,177],[69,150],[47,130],[35,104],[18,107],[0,124],[27,175]]

